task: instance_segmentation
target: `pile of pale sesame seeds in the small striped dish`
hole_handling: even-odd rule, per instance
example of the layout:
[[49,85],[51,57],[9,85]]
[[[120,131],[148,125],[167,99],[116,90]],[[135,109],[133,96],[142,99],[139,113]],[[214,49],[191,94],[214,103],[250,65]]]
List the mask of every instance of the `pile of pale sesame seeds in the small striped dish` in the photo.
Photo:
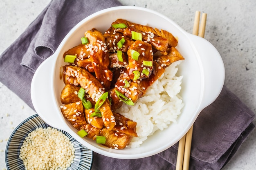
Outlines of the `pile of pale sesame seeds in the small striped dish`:
[[20,148],[26,170],[66,170],[74,160],[74,146],[57,129],[37,128],[29,133]]

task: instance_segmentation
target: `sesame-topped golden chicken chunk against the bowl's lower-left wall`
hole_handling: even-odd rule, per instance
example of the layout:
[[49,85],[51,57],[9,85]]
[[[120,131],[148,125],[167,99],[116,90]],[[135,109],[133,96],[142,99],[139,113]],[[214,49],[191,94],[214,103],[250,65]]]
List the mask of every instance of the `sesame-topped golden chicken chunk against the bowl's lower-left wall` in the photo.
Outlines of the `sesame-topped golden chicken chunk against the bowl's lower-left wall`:
[[76,129],[87,124],[83,113],[82,102],[74,102],[71,104],[65,104],[61,107],[63,116],[72,124]]

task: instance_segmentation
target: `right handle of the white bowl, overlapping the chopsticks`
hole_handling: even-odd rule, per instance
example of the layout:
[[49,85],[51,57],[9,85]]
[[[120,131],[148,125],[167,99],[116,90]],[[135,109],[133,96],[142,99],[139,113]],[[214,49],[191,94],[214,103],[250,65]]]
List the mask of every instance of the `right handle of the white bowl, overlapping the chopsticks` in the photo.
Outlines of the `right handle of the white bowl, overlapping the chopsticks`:
[[193,48],[201,60],[204,84],[201,109],[211,104],[220,94],[225,80],[225,68],[217,49],[207,40],[189,34]]

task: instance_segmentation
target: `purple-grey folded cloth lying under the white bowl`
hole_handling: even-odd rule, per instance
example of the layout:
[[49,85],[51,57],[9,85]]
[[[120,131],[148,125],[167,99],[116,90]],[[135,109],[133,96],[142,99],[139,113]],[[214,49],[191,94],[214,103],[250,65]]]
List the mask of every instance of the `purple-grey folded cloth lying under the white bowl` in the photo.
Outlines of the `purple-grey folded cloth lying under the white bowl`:
[[[0,81],[34,108],[30,85],[36,68],[55,52],[78,22],[101,9],[120,5],[117,0],[52,0],[18,40],[0,55]],[[195,121],[190,170],[220,170],[225,166],[255,127],[254,117],[252,110],[224,86],[216,101],[202,110]],[[94,153],[92,170],[172,170],[177,146],[151,157],[132,160]]]

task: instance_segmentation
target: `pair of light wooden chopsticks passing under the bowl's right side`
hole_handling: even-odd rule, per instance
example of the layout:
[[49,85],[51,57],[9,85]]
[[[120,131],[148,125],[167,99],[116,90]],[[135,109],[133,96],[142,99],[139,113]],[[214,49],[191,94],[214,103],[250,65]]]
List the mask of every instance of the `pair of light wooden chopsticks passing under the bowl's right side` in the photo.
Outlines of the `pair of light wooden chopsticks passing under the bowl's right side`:
[[[207,13],[202,13],[200,24],[200,11],[195,12],[195,20],[193,26],[193,35],[204,38]],[[193,133],[193,125],[189,131],[180,139],[177,154],[176,170],[189,170],[189,159],[191,150],[191,140]]]

